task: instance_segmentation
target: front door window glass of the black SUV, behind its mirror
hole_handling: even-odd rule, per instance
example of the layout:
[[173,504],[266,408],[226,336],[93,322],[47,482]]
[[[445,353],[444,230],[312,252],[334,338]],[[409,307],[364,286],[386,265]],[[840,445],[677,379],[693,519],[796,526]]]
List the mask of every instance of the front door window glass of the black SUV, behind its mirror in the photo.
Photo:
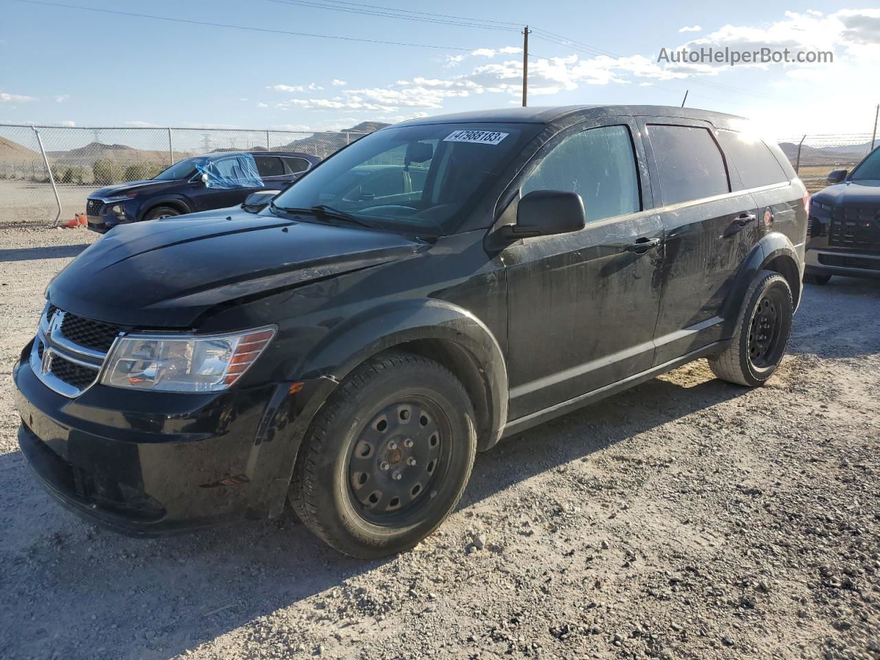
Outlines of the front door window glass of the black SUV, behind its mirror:
[[564,138],[524,180],[520,193],[533,190],[566,190],[581,195],[587,222],[641,210],[629,130],[625,126],[605,126]]

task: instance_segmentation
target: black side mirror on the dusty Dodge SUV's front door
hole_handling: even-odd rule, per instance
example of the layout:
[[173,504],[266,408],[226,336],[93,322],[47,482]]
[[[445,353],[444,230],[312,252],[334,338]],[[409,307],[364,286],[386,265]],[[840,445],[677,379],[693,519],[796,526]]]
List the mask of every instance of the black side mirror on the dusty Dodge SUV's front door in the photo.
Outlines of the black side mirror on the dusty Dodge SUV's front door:
[[519,201],[517,223],[501,227],[505,238],[550,236],[580,231],[587,223],[581,195],[565,190],[533,190]]

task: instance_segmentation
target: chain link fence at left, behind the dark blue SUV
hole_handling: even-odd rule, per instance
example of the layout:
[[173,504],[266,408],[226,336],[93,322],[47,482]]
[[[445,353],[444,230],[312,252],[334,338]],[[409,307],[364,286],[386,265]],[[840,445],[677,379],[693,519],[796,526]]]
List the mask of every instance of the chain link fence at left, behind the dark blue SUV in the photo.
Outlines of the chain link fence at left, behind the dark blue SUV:
[[326,158],[368,135],[238,128],[32,126],[0,123],[0,228],[83,213],[97,187],[150,179],[190,156],[288,151]]

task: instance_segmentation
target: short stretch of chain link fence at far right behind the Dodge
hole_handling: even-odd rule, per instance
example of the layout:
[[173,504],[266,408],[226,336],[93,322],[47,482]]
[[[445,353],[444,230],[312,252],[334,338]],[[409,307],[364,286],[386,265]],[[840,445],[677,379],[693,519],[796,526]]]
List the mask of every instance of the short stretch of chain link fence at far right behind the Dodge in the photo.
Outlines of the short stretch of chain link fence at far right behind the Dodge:
[[876,140],[870,134],[806,135],[783,138],[779,146],[810,193],[815,193],[828,185],[828,172],[852,170]]

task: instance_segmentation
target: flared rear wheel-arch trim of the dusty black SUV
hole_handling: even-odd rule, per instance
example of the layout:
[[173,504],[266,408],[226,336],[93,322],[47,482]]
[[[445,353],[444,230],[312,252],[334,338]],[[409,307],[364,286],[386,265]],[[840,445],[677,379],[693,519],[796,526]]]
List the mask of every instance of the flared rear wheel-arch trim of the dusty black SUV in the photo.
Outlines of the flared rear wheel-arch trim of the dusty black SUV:
[[743,260],[737,271],[736,282],[724,303],[722,334],[724,338],[732,337],[736,330],[739,310],[752,280],[760,271],[767,269],[776,270],[786,277],[797,308],[801,299],[803,259],[785,234],[774,231],[766,234],[752,247],[752,252]]

